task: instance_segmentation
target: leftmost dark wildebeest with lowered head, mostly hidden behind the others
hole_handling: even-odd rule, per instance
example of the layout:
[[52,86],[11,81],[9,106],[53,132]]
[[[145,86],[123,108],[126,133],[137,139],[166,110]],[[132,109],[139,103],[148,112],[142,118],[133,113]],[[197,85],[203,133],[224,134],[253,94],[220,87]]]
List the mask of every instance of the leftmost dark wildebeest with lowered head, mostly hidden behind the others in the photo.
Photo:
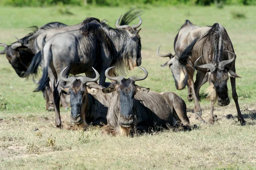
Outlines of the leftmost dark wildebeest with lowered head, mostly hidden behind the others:
[[17,38],[17,41],[11,45],[0,43],[0,46],[5,48],[0,52],[0,54],[6,53],[6,58],[12,65],[13,69],[15,69],[17,75],[24,78],[26,77],[26,70],[29,67],[32,57],[36,54],[34,48],[35,38],[47,31],[47,29],[63,26],[67,25],[59,22],[52,22],[41,26],[39,29],[37,26],[29,27],[32,29],[32,32],[21,39]]

